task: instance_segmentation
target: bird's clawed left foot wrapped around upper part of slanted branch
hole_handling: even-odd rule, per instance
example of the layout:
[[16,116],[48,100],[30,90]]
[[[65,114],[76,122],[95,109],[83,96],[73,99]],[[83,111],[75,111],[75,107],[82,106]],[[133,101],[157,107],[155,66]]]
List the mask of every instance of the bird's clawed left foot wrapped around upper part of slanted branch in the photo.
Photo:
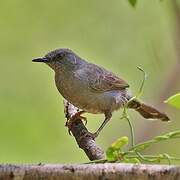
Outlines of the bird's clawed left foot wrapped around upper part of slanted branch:
[[66,126],[68,127],[68,132],[69,132],[70,135],[71,135],[71,127],[72,127],[73,123],[74,123],[77,119],[81,119],[81,120],[83,120],[83,121],[85,122],[85,125],[87,124],[87,118],[84,117],[84,116],[81,116],[81,114],[83,114],[83,113],[85,113],[85,112],[86,112],[86,111],[79,111],[79,112],[77,112],[76,114],[74,114],[74,115],[70,118],[70,120],[68,120],[68,121],[66,122]]

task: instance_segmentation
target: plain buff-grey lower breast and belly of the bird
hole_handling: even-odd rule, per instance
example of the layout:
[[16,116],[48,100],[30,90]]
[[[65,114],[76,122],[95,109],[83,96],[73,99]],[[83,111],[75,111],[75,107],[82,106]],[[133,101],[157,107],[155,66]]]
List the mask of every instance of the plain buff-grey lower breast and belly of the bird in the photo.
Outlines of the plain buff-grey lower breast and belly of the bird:
[[56,81],[61,95],[74,106],[90,113],[104,113],[119,109],[126,99],[126,90],[93,92],[89,86],[78,81]]

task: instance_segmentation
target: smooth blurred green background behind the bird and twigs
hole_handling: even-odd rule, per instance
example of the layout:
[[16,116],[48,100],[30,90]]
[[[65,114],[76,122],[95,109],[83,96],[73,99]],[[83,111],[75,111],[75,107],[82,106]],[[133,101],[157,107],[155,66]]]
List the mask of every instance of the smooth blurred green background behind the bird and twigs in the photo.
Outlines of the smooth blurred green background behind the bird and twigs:
[[[171,117],[171,123],[146,121],[130,111],[136,142],[178,130],[180,111],[163,103],[180,90],[180,2],[127,0],[1,0],[0,3],[0,162],[81,163],[88,159],[64,126],[63,98],[53,71],[31,60],[67,47],[127,80],[137,93],[142,74],[148,79],[141,97]],[[97,139],[106,149],[129,127],[115,112]],[[94,132],[103,115],[88,117]],[[148,153],[180,156],[174,140]]]

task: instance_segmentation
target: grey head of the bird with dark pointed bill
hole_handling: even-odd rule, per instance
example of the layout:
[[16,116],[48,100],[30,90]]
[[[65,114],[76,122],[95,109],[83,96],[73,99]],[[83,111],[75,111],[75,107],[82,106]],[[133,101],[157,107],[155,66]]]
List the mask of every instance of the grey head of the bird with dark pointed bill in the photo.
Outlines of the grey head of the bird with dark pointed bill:
[[73,70],[82,60],[70,49],[56,49],[44,57],[36,58],[33,62],[43,62],[49,65],[55,72],[59,70]]

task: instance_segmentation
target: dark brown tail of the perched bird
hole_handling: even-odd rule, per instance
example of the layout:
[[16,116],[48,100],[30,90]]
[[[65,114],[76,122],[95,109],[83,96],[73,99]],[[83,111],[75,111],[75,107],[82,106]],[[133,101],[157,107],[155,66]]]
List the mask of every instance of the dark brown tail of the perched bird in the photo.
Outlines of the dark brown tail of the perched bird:
[[128,107],[135,109],[146,119],[160,119],[161,121],[170,121],[169,117],[165,113],[159,112],[154,107],[141,103],[138,100],[132,100]]

